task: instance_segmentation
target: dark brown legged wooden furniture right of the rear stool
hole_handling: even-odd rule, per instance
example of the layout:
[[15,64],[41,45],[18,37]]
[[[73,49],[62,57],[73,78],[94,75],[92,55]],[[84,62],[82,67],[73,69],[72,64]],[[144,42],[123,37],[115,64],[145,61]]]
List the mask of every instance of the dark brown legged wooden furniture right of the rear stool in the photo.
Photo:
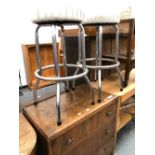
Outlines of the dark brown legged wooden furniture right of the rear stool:
[[[129,74],[132,68],[135,67],[135,19],[124,19],[119,24],[120,28],[120,45],[118,59],[122,63],[124,73],[124,86],[128,85]],[[112,38],[111,38],[112,39]],[[103,53],[103,57],[112,58],[113,55],[113,39],[111,42],[110,53]],[[125,66],[123,66],[125,65]]]

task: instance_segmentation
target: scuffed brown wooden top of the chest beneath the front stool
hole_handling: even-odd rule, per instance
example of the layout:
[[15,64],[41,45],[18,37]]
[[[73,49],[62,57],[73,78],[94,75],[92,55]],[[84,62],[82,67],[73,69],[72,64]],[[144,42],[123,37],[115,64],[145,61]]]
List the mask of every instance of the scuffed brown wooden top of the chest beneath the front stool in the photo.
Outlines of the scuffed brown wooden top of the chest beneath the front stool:
[[[76,87],[75,91],[61,94],[61,126],[57,126],[56,123],[55,97],[42,101],[38,105],[26,107],[24,113],[37,130],[45,138],[51,140],[117,100],[116,96],[103,93],[104,100],[99,104],[97,103],[97,90],[94,90],[95,105],[90,103],[90,91],[86,84]],[[111,98],[106,99],[107,96]]]

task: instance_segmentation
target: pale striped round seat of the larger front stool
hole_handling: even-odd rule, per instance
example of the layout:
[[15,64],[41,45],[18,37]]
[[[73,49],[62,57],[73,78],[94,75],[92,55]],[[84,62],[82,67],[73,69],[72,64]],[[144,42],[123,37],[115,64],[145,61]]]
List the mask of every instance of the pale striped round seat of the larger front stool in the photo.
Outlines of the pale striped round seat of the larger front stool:
[[39,23],[56,23],[56,22],[76,22],[79,23],[84,17],[82,9],[72,4],[51,2],[46,0],[40,4],[34,11],[32,22]]

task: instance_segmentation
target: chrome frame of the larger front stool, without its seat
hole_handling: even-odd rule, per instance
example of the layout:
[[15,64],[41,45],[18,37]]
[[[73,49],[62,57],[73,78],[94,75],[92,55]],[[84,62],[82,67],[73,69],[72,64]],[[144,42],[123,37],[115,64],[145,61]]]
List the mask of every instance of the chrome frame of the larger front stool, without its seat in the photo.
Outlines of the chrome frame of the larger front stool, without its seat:
[[[87,82],[90,94],[91,94],[91,104],[93,105],[95,103],[94,101],[94,91],[91,87],[91,83],[89,81],[89,78],[87,77],[88,74],[88,68],[86,68],[86,62],[85,62],[85,31],[82,26],[82,24],[79,23],[69,23],[68,21],[66,23],[62,22],[53,22],[53,23],[37,23],[38,26],[35,31],[35,43],[36,43],[36,56],[37,56],[37,67],[38,69],[35,71],[35,76],[37,77],[37,81],[34,85],[33,90],[33,96],[34,96],[34,104],[38,103],[37,99],[37,88],[39,85],[40,80],[54,80],[56,81],[56,112],[57,112],[57,125],[62,124],[61,120],[61,91],[60,91],[60,83],[65,81],[66,90],[69,91],[69,80],[75,80],[77,78],[84,77],[85,81]],[[66,48],[65,48],[65,35],[64,35],[64,25],[77,25],[79,27],[80,33],[79,33],[79,40],[78,40],[78,47],[79,47],[79,55],[80,59],[82,60],[81,63],[78,61],[77,64],[68,64],[67,63],[67,55],[66,55]],[[40,59],[40,49],[39,49],[39,29],[41,27],[52,27],[52,44],[53,44],[53,54],[54,54],[54,64],[43,66],[41,67],[41,59]],[[61,28],[61,39],[62,39],[62,50],[64,54],[64,63],[59,64],[58,62],[58,52],[57,52],[57,46],[56,46],[56,27]],[[60,67],[64,66],[64,77],[60,76]],[[73,76],[67,76],[67,68],[68,67],[75,67],[78,70],[82,69],[82,73],[80,74],[74,74]],[[44,77],[42,76],[42,71],[45,69],[55,68],[55,77]]]

